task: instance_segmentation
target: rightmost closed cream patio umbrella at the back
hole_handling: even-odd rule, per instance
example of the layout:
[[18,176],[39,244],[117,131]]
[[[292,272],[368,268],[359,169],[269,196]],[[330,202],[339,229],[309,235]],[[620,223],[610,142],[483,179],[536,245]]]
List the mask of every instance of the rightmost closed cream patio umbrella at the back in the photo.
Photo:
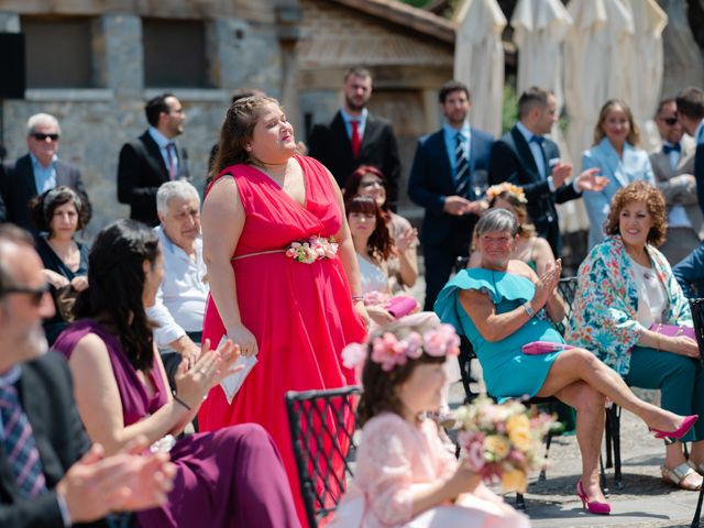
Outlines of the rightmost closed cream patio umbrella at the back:
[[[626,67],[629,82],[622,97],[630,106],[640,127],[641,146],[647,151],[661,144],[658,128],[652,120],[662,87],[663,50],[662,31],[668,25],[667,13],[656,0],[623,0],[634,20],[632,46],[628,55],[635,57]],[[638,59],[644,57],[644,61]]]

